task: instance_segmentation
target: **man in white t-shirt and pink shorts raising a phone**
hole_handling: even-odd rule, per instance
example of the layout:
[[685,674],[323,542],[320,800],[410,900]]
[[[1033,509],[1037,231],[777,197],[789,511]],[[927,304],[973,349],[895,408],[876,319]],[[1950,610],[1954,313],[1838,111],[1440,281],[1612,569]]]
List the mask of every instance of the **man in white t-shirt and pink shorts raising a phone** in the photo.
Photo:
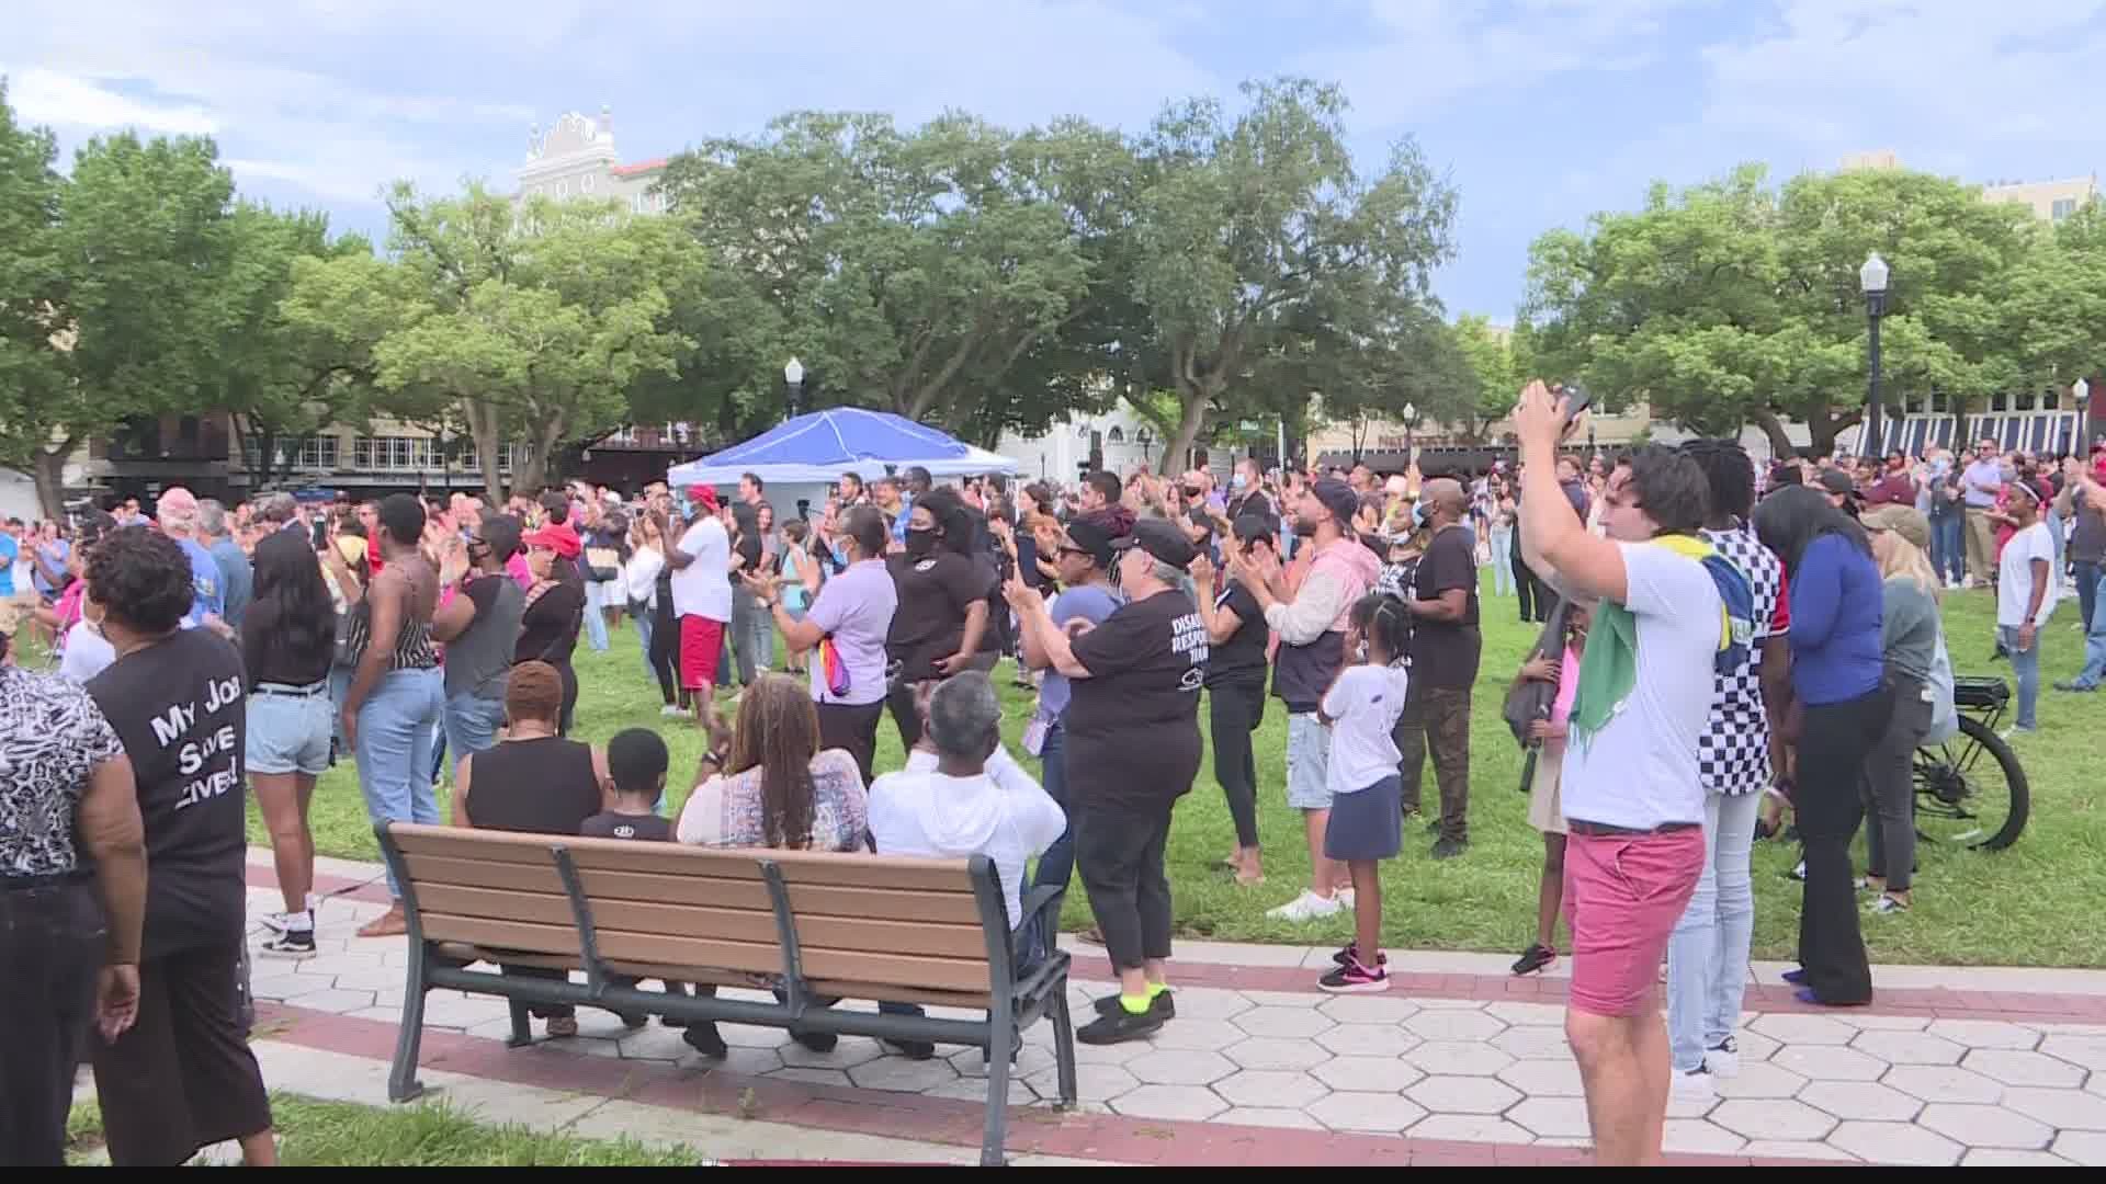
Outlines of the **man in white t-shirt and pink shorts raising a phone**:
[[[1704,870],[1697,744],[1725,640],[1725,598],[1697,539],[1710,482],[1693,459],[1647,447],[1609,480],[1607,537],[1588,533],[1556,480],[1567,400],[1542,381],[1514,409],[1521,535],[1529,569],[1594,596],[1558,792],[1569,830],[1565,916],[1573,984],[1565,1034],[1580,1062],[1594,1157],[1660,1163],[1668,1032],[1660,959]],[[1718,579],[1746,579],[1729,567]]]

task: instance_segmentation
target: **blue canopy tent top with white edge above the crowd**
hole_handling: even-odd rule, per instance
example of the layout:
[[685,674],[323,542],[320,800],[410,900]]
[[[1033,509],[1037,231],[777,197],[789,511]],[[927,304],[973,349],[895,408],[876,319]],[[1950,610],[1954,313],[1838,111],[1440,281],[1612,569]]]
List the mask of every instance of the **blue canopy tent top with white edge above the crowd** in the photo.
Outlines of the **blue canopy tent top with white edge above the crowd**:
[[665,480],[689,485],[735,485],[756,474],[779,485],[832,485],[845,472],[863,480],[891,470],[920,466],[931,476],[1013,474],[1017,461],[975,449],[925,423],[861,407],[830,407],[783,423],[718,453],[678,463]]

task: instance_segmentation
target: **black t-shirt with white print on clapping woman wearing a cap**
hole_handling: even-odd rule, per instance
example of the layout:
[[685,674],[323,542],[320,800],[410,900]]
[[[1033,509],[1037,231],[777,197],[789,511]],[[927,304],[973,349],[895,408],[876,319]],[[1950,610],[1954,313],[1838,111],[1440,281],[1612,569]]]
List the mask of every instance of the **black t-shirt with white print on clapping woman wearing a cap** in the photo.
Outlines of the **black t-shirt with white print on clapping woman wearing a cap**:
[[1171,588],[1131,600],[1074,638],[1089,678],[1072,678],[1064,727],[1076,801],[1160,809],[1198,775],[1198,689],[1207,680],[1207,624]]

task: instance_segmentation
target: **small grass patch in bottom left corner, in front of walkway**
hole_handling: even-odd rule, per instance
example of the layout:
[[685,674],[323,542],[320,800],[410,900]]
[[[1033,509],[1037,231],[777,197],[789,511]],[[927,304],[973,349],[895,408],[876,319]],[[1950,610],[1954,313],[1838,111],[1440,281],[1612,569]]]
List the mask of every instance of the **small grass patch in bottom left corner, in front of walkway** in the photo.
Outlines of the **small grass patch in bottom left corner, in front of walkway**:
[[[701,1152],[636,1140],[581,1140],[516,1123],[489,1125],[444,1102],[358,1106],[272,1093],[282,1167],[695,1167]],[[91,1161],[101,1112],[80,1102],[67,1117],[69,1159]]]

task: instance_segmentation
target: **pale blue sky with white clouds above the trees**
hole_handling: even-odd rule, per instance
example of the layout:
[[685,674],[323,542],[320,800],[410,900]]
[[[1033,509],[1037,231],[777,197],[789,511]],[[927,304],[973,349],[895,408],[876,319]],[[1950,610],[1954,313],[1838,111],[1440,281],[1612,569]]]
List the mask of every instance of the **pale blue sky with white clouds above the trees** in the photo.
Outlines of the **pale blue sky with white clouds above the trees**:
[[1508,320],[1527,244],[1740,160],[1889,147],[1973,181],[2106,156],[2106,0],[15,0],[0,74],[67,152],[211,133],[242,192],[379,232],[409,177],[510,188],[531,122],[613,107],[625,160],[790,107],[1129,131],[1173,97],[1342,82],[1363,166],[1462,192],[1451,312]]

